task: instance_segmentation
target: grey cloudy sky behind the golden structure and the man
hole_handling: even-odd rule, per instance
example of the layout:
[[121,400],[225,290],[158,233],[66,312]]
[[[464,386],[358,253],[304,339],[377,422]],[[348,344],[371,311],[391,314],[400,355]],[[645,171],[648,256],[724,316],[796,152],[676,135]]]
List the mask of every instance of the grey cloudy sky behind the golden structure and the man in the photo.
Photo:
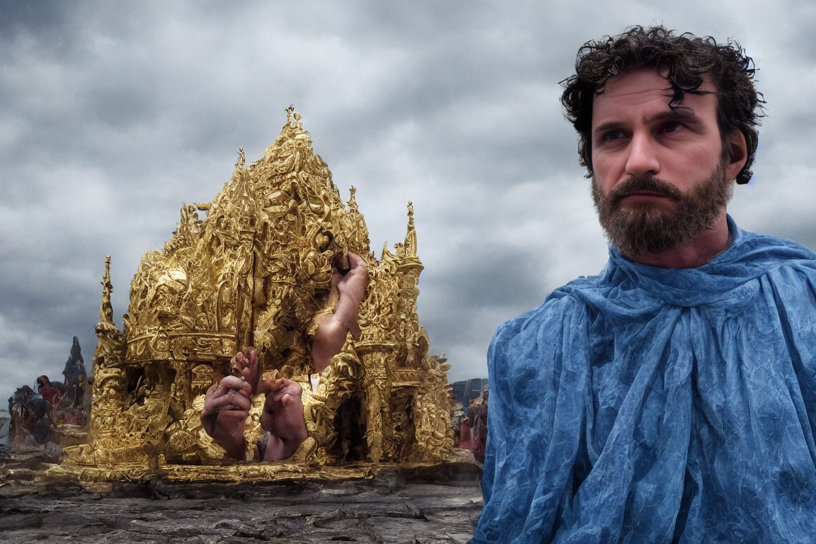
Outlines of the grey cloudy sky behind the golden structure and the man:
[[262,157],[289,104],[376,254],[414,202],[431,350],[451,381],[486,375],[499,323],[605,263],[558,82],[632,24],[746,47],[768,117],[731,214],[816,248],[816,7],[654,3],[0,0],[0,395],[61,379],[74,335],[90,370],[104,256],[121,325],[181,202],[211,201],[239,146]]

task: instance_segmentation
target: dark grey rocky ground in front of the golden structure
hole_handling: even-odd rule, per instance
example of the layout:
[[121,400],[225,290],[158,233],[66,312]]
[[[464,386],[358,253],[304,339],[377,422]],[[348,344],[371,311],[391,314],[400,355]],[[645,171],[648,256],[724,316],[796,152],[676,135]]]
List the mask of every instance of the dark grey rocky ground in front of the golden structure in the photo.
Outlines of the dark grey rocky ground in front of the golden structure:
[[[30,465],[13,473],[37,473]],[[478,479],[477,468],[462,463],[380,471],[373,480],[156,481],[106,493],[7,477],[0,542],[468,542],[481,511]]]

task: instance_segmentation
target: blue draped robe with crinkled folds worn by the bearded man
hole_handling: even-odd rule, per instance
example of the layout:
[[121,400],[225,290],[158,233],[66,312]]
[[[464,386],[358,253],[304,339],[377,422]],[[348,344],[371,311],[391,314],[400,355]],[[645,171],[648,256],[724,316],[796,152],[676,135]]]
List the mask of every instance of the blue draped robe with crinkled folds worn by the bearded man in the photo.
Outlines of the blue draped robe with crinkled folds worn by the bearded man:
[[729,227],[499,327],[472,542],[816,542],[816,256]]

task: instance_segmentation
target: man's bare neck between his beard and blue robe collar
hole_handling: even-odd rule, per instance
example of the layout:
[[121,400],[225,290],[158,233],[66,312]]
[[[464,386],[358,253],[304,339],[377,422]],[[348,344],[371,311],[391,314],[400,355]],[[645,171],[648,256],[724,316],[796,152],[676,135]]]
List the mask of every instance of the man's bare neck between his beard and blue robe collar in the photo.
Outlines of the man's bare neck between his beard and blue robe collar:
[[712,228],[700,232],[685,244],[660,253],[630,256],[630,259],[659,268],[697,268],[727,250],[729,245],[728,219],[723,210]]

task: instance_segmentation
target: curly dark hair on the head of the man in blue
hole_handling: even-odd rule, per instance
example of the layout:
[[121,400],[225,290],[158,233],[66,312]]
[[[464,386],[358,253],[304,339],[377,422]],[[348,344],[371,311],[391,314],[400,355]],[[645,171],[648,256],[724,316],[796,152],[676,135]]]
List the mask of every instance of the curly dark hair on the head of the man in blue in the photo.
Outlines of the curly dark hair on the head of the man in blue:
[[564,104],[565,117],[579,133],[581,166],[587,167],[587,177],[591,177],[592,100],[604,91],[610,77],[642,68],[666,73],[674,90],[669,102],[671,108],[683,100],[684,93],[707,94],[699,90],[703,74],[707,73],[716,85],[717,123],[723,143],[734,129],[745,135],[747,159],[737,175],[737,183],[747,184],[756,153],[756,126],[759,118],[764,117],[762,104],[765,104],[762,94],[754,87],[754,62],[745,55],[743,47],[732,40],[718,44],[710,36],[698,38],[690,33],[675,35],[672,32],[663,26],[647,29],[634,26],[619,36],[605,36],[579,49],[575,75],[561,81],[564,87],[561,104]]

